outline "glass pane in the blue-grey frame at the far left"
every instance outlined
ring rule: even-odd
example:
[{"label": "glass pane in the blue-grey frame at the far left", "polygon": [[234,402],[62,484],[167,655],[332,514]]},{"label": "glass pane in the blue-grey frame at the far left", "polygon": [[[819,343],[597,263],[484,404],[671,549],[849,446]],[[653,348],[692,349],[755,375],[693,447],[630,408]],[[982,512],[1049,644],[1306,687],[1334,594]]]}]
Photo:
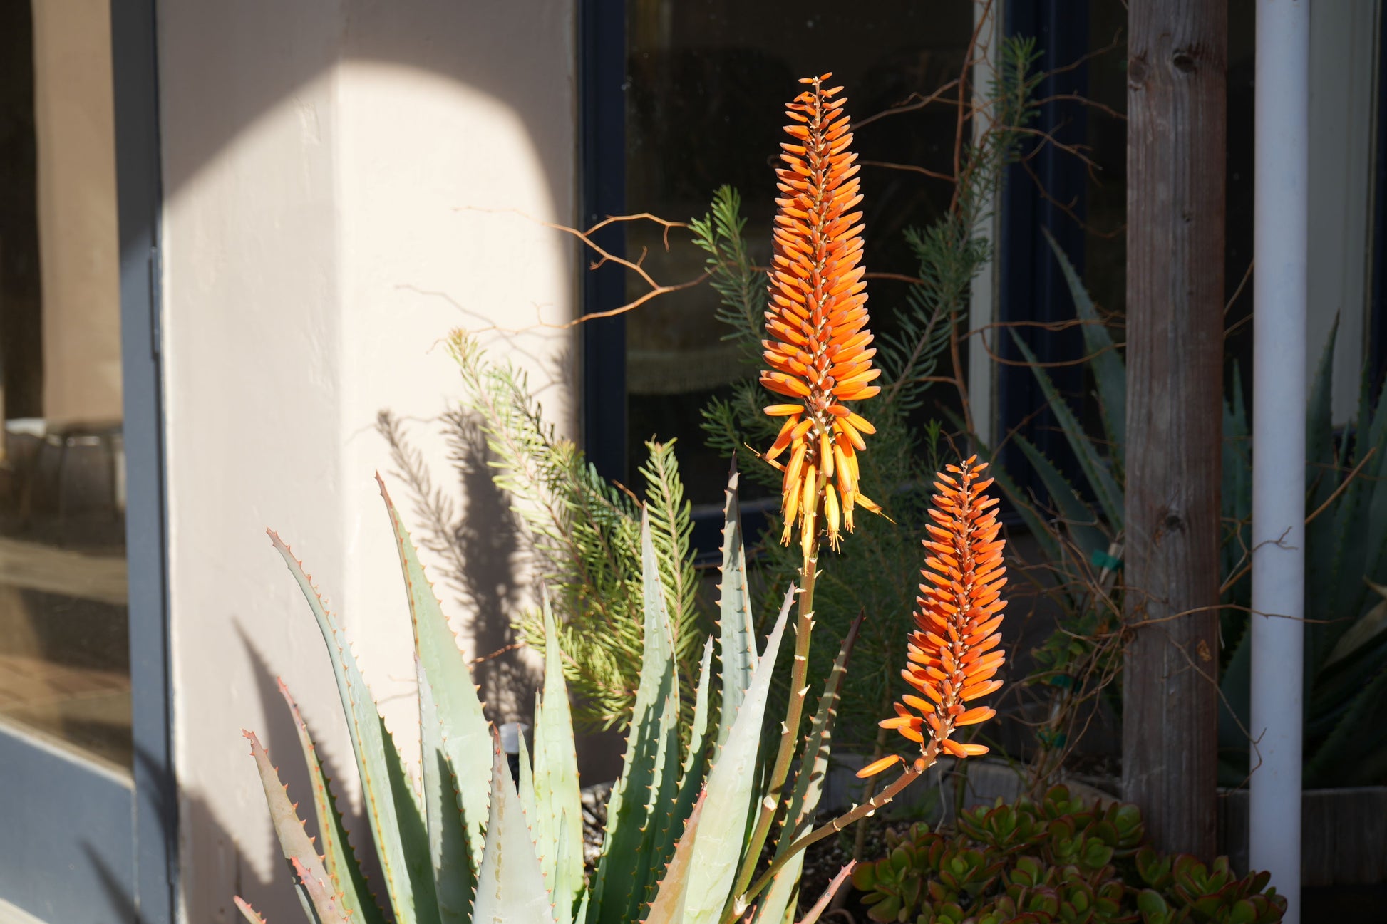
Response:
[{"label": "glass pane in the blue-grey frame at the far left", "polygon": [[110,3],[0,4],[0,721],[130,763]]}]

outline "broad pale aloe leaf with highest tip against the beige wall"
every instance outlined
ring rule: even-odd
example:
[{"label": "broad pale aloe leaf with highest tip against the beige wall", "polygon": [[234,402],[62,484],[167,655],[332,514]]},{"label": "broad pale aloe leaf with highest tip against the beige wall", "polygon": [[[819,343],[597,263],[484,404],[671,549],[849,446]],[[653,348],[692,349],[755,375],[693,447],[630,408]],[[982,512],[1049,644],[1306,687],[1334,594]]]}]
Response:
[{"label": "broad pale aloe leaf with highest tip against the beige wall", "polygon": [[399,567],[409,592],[409,617],[415,631],[415,651],[423,662],[434,705],[442,723],[442,749],[448,755],[459,784],[459,806],[473,869],[481,862],[481,819],[487,817],[487,751],[491,746],[491,727],[481,712],[477,688],[472,683],[467,660],[458,648],[458,640],[448,626],[438,597],[424,576],[419,554],[390,501],[386,483],[376,476],[380,497],[386,501],[390,524],[399,551]]}]

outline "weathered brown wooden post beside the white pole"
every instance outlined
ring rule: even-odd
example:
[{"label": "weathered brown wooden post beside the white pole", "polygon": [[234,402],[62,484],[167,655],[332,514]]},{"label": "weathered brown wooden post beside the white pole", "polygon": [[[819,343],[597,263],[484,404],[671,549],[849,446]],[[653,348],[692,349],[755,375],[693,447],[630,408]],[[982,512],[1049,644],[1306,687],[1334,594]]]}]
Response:
[{"label": "weathered brown wooden post beside the white pole", "polygon": [[1216,835],[1226,0],[1128,12],[1122,795],[1165,850]]}]

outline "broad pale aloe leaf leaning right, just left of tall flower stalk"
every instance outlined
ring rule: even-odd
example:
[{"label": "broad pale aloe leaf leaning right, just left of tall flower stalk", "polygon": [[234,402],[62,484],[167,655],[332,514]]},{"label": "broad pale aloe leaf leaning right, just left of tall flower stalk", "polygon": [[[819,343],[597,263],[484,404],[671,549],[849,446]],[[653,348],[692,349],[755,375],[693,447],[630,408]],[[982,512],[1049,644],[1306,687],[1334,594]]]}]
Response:
[{"label": "broad pale aloe leaf leaning right, just left of tall flower stalk", "polygon": [[727,744],[707,774],[707,802],[694,841],[688,895],[684,902],[685,924],[713,924],[731,898],[732,880],[746,841],[746,820],[752,807],[756,755],[761,744],[761,723],[766,717],[766,698],[775,656],[779,653],[785,620],[795,601],[793,585],[785,594],[775,628],[766,640],[766,651],[757,659],[752,685],[736,713],[736,721],[727,735]]}]

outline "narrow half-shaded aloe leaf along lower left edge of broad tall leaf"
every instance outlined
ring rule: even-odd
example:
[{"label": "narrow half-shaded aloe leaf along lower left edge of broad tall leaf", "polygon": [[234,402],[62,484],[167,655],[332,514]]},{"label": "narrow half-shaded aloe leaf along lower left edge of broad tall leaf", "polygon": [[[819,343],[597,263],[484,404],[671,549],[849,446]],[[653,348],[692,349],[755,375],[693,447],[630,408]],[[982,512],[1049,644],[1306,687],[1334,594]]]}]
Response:
[{"label": "narrow half-shaded aloe leaf along lower left edge of broad tall leaf", "polygon": [[415,658],[419,681],[420,763],[424,784],[424,820],[429,856],[433,860],[434,895],[442,924],[466,924],[476,885],[467,835],[458,809],[458,781],[442,746],[442,723],[434,705],[433,687]]}]

